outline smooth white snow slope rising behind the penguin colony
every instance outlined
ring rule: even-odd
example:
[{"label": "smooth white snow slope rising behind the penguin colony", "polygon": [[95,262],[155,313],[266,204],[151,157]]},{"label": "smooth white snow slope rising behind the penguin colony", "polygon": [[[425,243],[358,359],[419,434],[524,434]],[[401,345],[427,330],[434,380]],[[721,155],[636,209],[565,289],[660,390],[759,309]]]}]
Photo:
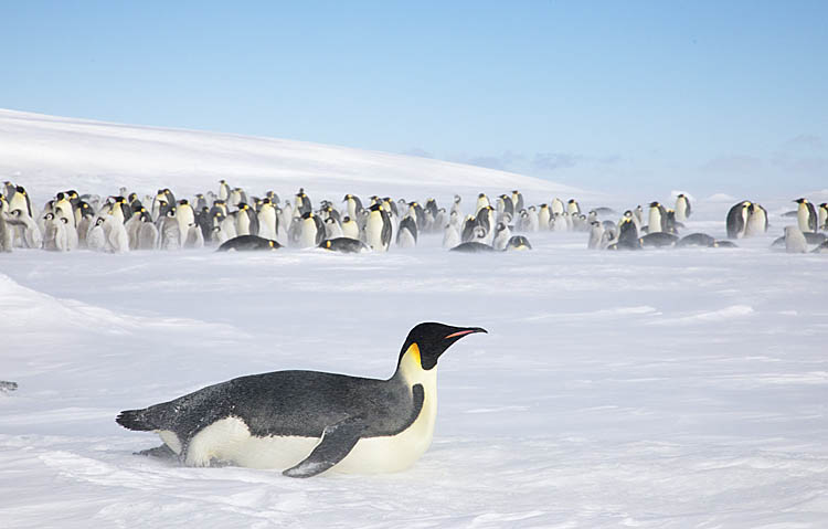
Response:
[{"label": "smooth white snow slope rising behind the penguin colony", "polygon": [[[400,194],[511,187],[545,194],[576,190],[492,169],[427,158],[302,141],[119,125],[0,109],[0,177],[36,183],[50,193],[144,192],[159,187],[192,194],[219,179],[245,188]],[[99,190],[100,189],[100,190]],[[449,194],[450,195],[450,194]],[[47,197],[46,197],[47,198]],[[544,199],[548,200],[548,199]]]}]

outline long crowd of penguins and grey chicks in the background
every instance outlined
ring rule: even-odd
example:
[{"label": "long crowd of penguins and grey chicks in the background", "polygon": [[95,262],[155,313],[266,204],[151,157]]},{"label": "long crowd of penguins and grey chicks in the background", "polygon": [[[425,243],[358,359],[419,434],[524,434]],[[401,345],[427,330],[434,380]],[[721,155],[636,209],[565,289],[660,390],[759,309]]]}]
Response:
[{"label": "long crowd of penguins and grey chicks in the background", "polygon": [[[421,204],[376,195],[363,205],[353,194],[346,194],[339,204],[322,200],[315,205],[302,189],[283,202],[273,191],[253,197],[224,180],[217,192],[199,193],[192,200],[177,200],[170,189],[142,199],[125,188],[106,199],[70,190],[56,193],[40,209],[22,186],[7,181],[0,190],[0,251],[6,252],[25,247],[124,253],[204,246],[221,252],[286,246],[388,252],[392,246],[415,247],[423,234],[442,233],[444,248],[491,253],[531,250],[527,236],[516,233],[571,231],[588,233],[591,250],[735,246],[704,233],[680,236],[692,214],[684,194],[676,198],[673,208],[654,201],[646,212],[638,205],[615,221],[616,213],[608,208],[584,214],[575,199],[524,204],[519,191],[497,197],[493,204],[480,193],[474,209],[464,212],[459,195],[449,208],[440,208],[434,199]],[[772,247],[784,246],[792,253],[828,252],[820,233],[828,231],[828,204],[815,207],[805,198],[794,202],[797,210],[784,216],[796,218],[797,224],[785,230]],[[729,210],[725,224],[729,240],[757,236],[768,231],[767,211],[755,202],[741,201]]]}]

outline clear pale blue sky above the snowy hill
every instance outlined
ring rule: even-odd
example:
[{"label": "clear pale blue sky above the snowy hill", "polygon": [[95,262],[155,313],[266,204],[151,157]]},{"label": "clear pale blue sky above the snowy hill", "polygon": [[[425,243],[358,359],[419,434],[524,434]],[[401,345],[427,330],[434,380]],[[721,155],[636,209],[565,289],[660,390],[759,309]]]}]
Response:
[{"label": "clear pale blue sky above the snowy hill", "polygon": [[0,4],[0,107],[582,187],[828,187],[828,2]]}]

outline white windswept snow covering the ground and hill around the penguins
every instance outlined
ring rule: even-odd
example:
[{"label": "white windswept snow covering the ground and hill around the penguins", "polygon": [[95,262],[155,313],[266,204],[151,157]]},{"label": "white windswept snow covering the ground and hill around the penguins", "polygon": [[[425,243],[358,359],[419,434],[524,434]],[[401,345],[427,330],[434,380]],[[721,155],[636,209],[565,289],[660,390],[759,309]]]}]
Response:
[{"label": "white windswept snow covering the ground and hill around the penguins", "polygon": [[[533,180],[307,145],[311,158],[331,149],[325,168],[297,154],[291,169],[308,169],[289,177],[279,157],[294,142],[0,114],[7,178],[44,200],[68,187],[204,191],[227,171],[280,194],[341,197],[351,178],[357,192],[420,200],[456,187],[468,209],[471,188]],[[9,161],[26,138],[44,141],[42,163]],[[70,156],[85,141],[88,154]],[[258,148],[270,154],[237,158]],[[151,149],[164,172],[135,167],[130,152]],[[556,188],[534,186],[544,201]],[[771,232],[736,250],[590,252],[585,233],[544,233],[529,235],[532,252],[495,255],[448,253],[437,235],[388,254],[0,254],[0,380],[20,384],[0,393],[0,527],[826,527],[828,261],[768,250],[803,191],[766,202]],[[687,233],[723,236],[729,207],[693,203]],[[404,473],[187,468],[131,455],[158,437],[115,423],[242,374],[389,377],[424,320],[489,335],[442,358],[434,444]]]}]

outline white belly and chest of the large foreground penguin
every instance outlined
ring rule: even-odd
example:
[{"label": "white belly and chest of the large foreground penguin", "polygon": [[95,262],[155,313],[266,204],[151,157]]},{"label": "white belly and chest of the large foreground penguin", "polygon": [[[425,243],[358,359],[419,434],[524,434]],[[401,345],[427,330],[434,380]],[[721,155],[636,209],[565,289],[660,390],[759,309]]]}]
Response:
[{"label": "white belly and chest of the large foreground penguin", "polygon": [[[428,395],[414,423],[396,435],[361,438],[331,472],[378,474],[400,472],[412,466],[428,448],[434,434],[437,402]],[[178,437],[168,431],[158,432],[173,452],[180,453]],[[304,461],[319,444],[319,437],[251,435],[238,417],[216,421],[199,432],[187,449],[187,465],[208,466],[223,461],[250,468],[284,470]]]}]

